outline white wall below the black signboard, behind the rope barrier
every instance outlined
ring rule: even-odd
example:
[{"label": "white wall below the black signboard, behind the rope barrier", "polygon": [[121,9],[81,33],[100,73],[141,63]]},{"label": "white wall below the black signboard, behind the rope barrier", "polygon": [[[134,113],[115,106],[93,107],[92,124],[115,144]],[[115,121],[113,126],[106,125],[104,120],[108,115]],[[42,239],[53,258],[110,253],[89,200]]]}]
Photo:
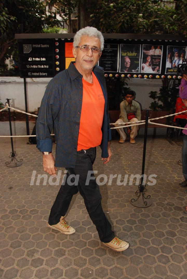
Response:
[{"label": "white wall below the black signboard, behind the rope barrier", "polygon": [[[33,112],[40,107],[45,88],[51,78],[27,78],[27,104],[28,111]],[[131,78],[128,84],[136,92],[136,101],[140,102],[142,109],[149,109],[153,101],[149,98],[150,91],[158,91],[162,86],[161,80]],[[11,98],[10,104],[25,111],[25,95],[23,78],[0,77],[0,101],[5,104],[6,98]]]}]

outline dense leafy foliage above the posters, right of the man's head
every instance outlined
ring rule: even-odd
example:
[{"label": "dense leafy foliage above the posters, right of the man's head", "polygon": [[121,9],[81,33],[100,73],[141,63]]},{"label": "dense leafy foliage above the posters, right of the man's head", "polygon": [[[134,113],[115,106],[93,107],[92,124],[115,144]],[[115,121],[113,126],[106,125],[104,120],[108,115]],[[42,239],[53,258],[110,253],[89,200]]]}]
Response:
[{"label": "dense leafy foliage above the posters, right of the man's head", "polygon": [[187,0],[98,0],[90,25],[103,33],[187,34]]}]

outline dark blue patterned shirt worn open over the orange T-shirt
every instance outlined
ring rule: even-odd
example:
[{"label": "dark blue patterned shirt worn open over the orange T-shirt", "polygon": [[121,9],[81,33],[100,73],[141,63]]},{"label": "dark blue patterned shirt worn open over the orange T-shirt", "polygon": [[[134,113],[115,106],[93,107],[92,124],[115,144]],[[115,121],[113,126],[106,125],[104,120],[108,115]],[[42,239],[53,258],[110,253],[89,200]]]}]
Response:
[{"label": "dark blue patterned shirt worn open over the orange T-shirt", "polygon": [[[75,167],[79,133],[83,84],[82,75],[71,62],[68,69],[60,72],[49,82],[42,98],[36,122],[37,148],[52,151],[51,132],[54,127],[56,139],[56,167]],[[93,69],[105,98],[102,124],[101,149],[103,158],[108,157],[108,141],[111,140],[108,100],[104,71],[99,66]],[[90,127],[92,129],[92,127]],[[94,146],[93,146],[94,147]]]}]

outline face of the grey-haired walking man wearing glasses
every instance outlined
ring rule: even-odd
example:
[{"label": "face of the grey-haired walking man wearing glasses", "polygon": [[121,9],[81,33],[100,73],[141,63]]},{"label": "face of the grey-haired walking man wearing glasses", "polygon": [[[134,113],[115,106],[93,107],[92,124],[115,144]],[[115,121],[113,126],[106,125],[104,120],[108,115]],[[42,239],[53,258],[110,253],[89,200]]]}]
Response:
[{"label": "face of the grey-haired walking man wearing glasses", "polygon": [[[96,37],[88,37],[83,35],[78,46],[85,45],[88,47],[96,47],[100,49],[100,40]],[[99,60],[101,53],[92,53],[89,49],[87,52],[83,52],[79,47],[73,47],[73,56],[76,58],[77,69],[91,70]]]}]

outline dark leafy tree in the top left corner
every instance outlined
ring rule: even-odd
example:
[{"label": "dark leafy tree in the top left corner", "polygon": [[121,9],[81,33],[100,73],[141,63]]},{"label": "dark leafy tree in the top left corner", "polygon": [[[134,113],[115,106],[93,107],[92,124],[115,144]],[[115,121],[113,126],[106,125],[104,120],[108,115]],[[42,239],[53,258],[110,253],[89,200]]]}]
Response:
[{"label": "dark leafy tree in the top left corner", "polygon": [[1,0],[0,60],[16,56],[15,33],[40,33],[45,18],[44,5],[37,0]]}]

